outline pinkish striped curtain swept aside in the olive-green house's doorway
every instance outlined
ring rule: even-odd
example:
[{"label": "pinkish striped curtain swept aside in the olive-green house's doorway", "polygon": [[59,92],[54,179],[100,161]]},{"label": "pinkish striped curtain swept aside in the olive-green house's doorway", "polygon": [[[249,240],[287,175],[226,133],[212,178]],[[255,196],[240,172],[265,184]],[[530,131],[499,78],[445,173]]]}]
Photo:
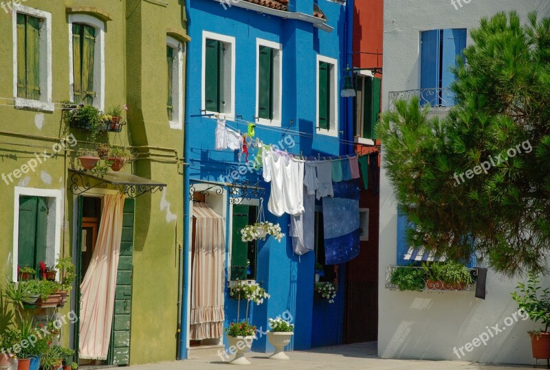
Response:
[{"label": "pinkish striped curtain swept aside in the olive-green house's doorway", "polygon": [[122,238],[124,194],[106,195],[96,248],[80,285],[80,358],[107,359]]}]

